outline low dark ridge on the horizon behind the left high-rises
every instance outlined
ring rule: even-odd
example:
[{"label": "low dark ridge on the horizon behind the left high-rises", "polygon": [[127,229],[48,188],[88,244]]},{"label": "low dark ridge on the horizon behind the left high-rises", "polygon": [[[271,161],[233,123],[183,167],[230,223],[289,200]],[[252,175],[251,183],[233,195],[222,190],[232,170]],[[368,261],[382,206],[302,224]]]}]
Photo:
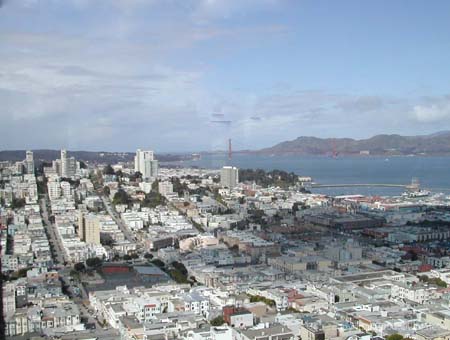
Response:
[{"label": "low dark ridge on the horizon behind the left high-rises", "polygon": [[[60,150],[32,150],[36,162],[52,161],[60,158]],[[96,152],[96,151],[67,151],[69,157],[75,157],[77,160],[93,163],[114,164],[117,162],[134,161],[133,152]],[[155,158],[161,162],[179,161],[190,159],[190,155],[159,154]],[[0,151],[0,161],[22,161],[25,159],[25,150],[6,150]]]}]

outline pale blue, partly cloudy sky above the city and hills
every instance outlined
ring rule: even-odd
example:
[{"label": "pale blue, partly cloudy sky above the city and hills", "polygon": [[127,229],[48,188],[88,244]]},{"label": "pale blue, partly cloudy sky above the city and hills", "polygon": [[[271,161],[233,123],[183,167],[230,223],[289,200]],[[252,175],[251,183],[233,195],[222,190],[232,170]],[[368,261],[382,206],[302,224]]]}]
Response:
[{"label": "pale blue, partly cloudy sky above the city and hills", "polygon": [[450,129],[447,0],[0,0],[0,149]]}]

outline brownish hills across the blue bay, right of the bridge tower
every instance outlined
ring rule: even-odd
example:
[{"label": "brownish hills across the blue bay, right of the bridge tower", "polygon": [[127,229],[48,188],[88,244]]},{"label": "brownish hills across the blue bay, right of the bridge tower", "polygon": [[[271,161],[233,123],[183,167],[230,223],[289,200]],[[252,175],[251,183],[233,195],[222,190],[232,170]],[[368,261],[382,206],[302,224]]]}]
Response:
[{"label": "brownish hills across the blue bay, right of the bridge tower", "polygon": [[274,155],[450,155],[450,131],[423,136],[377,135],[369,139],[298,137],[256,151]]}]

